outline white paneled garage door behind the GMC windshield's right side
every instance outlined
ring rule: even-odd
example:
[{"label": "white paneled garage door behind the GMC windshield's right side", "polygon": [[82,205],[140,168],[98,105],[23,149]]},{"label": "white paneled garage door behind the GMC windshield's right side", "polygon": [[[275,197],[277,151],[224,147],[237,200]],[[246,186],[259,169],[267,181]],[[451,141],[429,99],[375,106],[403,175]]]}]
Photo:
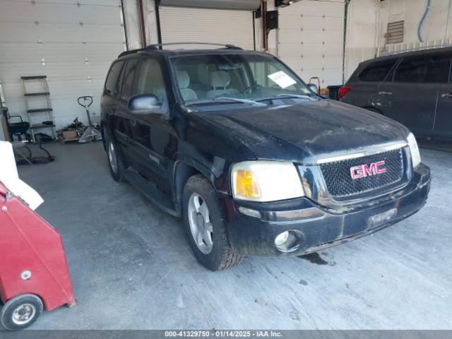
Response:
[{"label": "white paneled garage door behind the GMC windshield's right side", "polygon": [[304,81],[343,82],[343,0],[302,0],[279,10],[278,57]]}]

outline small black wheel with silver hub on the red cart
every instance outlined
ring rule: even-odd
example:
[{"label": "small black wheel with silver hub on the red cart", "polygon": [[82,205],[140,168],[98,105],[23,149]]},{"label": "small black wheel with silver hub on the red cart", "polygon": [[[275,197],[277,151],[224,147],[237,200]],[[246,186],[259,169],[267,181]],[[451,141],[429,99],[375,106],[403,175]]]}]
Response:
[{"label": "small black wheel with silver hub on the red cart", "polygon": [[0,322],[9,331],[28,328],[42,313],[42,300],[36,295],[19,295],[8,302],[0,311]]}]

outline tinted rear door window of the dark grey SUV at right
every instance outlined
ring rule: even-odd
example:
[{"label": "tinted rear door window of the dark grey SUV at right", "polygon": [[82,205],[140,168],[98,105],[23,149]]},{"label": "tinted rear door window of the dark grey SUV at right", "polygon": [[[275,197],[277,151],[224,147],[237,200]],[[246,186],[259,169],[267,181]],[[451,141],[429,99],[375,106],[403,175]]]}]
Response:
[{"label": "tinted rear door window of the dark grey SUV at right", "polygon": [[403,58],[397,66],[394,81],[399,83],[447,83],[450,54],[424,54]]}]

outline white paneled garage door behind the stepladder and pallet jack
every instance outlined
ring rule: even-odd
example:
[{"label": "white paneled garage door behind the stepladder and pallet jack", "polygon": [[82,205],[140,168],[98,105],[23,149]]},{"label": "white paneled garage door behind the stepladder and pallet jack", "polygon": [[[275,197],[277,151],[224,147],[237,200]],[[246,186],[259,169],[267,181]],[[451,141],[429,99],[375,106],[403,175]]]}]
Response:
[{"label": "white paneled garage door behind the stepladder and pallet jack", "polygon": [[[20,77],[47,76],[57,129],[76,117],[86,123],[76,102],[82,95],[94,96],[90,112],[98,120],[109,65],[125,49],[120,0],[1,0],[0,32],[0,81],[10,114],[27,117]],[[41,101],[29,100],[30,108]],[[35,124],[40,119],[47,117],[32,117]]]}]

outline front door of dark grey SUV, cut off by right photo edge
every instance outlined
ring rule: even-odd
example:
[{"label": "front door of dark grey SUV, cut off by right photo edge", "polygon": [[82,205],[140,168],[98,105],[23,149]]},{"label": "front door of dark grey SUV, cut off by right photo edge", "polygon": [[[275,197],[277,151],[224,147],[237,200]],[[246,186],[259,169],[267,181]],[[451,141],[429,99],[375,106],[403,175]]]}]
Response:
[{"label": "front door of dark grey SUV, cut off by right photo edge", "polygon": [[438,93],[438,105],[434,119],[434,136],[452,138],[452,78],[451,78],[452,52],[448,53],[449,71],[448,81],[442,83]]}]

